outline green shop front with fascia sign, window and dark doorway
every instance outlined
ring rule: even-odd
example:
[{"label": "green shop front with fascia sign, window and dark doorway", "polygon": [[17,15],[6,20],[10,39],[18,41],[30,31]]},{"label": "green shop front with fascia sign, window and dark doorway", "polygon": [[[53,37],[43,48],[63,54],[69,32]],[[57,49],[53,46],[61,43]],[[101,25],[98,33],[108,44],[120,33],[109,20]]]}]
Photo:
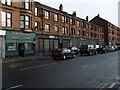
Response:
[{"label": "green shop front with fascia sign, window and dark doorway", "polygon": [[6,57],[24,57],[34,55],[35,33],[22,31],[6,31]]}]

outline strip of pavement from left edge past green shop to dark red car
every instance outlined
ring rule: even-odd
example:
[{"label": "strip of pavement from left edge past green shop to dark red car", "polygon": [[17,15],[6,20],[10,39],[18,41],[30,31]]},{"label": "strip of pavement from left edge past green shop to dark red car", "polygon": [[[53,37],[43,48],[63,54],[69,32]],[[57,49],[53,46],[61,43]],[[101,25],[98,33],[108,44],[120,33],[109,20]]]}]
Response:
[{"label": "strip of pavement from left edge past green shop to dark red car", "polygon": [[5,58],[2,59],[1,63],[13,63],[13,62],[27,62],[27,61],[33,61],[33,60],[48,60],[52,58],[51,55],[33,55],[33,56],[26,56],[26,57],[11,57],[11,58]]}]

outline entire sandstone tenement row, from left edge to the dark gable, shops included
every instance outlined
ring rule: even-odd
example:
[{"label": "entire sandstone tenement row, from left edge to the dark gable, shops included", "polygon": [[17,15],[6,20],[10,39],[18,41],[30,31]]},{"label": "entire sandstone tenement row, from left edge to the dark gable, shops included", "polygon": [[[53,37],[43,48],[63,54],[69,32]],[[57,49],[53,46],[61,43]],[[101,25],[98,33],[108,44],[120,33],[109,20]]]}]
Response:
[{"label": "entire sandstone tenement row, from left edge to the dark gable, shops included", "polygon": [[58,47],[104,44],[103,27],[90,23],[88,16],[79,18],[76,11],[65,12],[62,4],[59,9],[33,0],[1,0],[0,4],[2,58],[46,54]]}]

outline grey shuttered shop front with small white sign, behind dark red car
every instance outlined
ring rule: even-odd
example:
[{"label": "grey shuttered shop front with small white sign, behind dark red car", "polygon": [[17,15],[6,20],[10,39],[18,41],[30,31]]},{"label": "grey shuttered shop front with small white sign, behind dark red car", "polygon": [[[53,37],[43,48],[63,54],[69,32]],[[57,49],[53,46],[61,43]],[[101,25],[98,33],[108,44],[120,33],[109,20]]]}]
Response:
[{"label": "grey shuttered shop front with small white sign, behind dark red car", "polygon": [[68,44],[67,37],[36,34],[35,52],[36,54],[51,54],[56,48],[66,48]]}]

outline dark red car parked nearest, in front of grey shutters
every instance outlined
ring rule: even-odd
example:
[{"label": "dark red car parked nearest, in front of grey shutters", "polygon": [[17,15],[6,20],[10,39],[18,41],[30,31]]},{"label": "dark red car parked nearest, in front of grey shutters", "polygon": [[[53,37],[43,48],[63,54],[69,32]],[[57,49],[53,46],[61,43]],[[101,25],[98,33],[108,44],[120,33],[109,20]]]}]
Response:
[{"label": "dark red car parked nearest, in front of grey shutters", "polygon": [[75,58],[75,52],[68,48],[58,48],[52,52],[52,56],[54,59],[66,59],[69,57]]}]

